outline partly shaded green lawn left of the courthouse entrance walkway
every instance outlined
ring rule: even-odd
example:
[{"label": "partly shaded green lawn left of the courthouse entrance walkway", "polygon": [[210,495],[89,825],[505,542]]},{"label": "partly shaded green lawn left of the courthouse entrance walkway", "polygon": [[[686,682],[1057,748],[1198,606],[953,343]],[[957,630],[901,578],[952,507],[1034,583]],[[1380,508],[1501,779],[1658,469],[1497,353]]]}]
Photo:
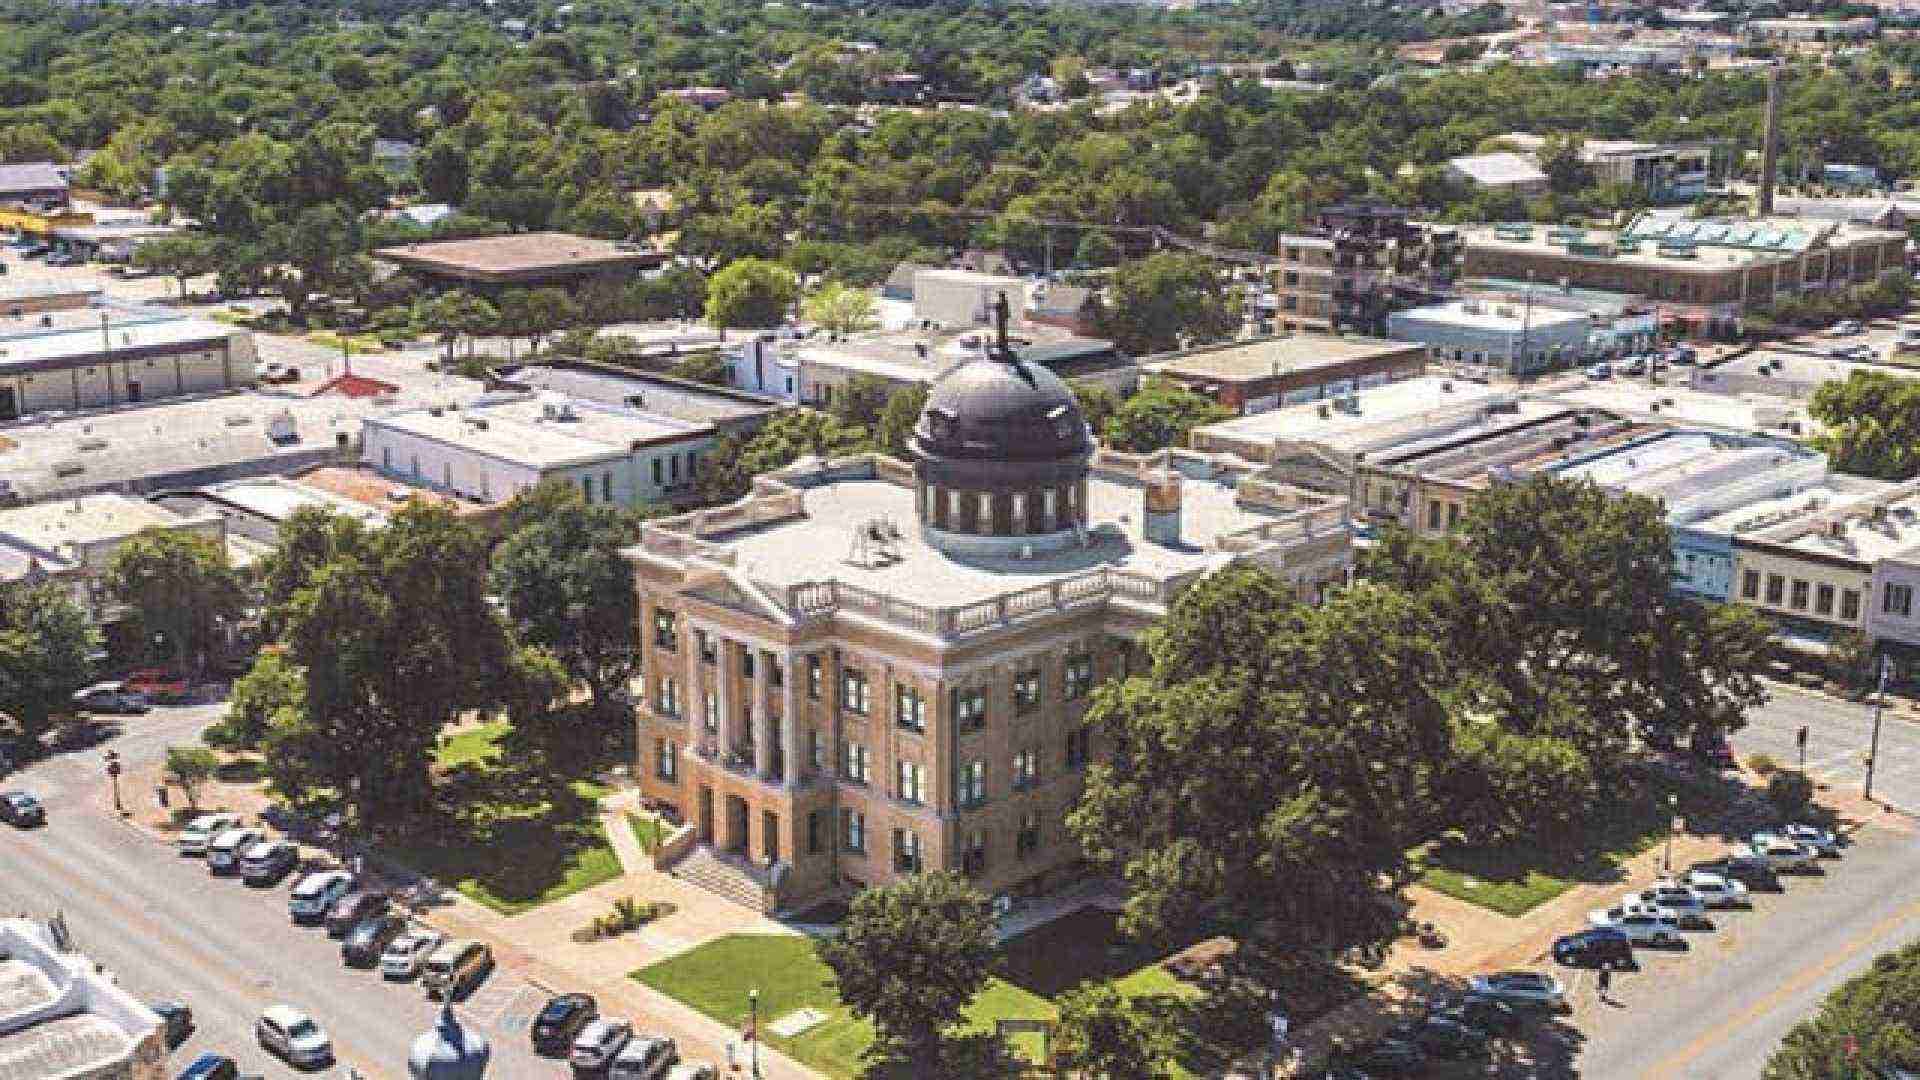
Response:
[{"label": "partly shaded green lawn left of the courthouse entrance walkway", "polygon": [[449,799],[457,817],[388,851],[501,915],[618,878],[620,857],[595,805],[607,788],[511,769],[499,746],[507,730],[492,723],[445,740],[434,763],[457,788]]}]

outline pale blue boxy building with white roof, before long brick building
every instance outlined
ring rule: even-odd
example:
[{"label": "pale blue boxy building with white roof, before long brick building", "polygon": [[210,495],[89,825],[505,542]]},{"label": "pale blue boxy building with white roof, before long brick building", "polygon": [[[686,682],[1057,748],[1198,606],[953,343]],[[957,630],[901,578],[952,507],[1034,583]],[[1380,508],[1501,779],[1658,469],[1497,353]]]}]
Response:
[{"label": "pale blue boxy building with white roof, before long brick building", "polygon": [[1386,336],[1417,342],[1436,363],[1530,377],[1578,363],[1588,354],[1594,319],[1582,311],[1484,300],[1450,300],[1394,311]]}]

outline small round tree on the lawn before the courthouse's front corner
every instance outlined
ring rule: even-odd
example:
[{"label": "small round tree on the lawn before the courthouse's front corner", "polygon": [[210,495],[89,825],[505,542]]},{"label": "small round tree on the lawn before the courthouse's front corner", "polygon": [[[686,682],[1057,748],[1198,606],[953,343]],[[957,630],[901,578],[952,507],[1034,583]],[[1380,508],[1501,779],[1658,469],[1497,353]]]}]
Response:
[{"label": "small round tree on the lawn before the courthouse's front corner", "polygon": [[856,896],[841,932],[814,951],[852,1015],[916,1074],[935,1074],[943,1032],[987,984],[993,909],[960,874],[914,874]]}]

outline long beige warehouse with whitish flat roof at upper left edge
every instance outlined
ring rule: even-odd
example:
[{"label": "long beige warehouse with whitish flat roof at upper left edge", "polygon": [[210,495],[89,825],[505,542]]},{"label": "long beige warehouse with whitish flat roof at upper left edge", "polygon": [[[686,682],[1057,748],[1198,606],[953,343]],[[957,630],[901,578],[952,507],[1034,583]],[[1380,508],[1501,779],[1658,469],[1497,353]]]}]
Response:
[{"label": "long beige warehouse with whitish flat roof at upper left edge", "polygon": [[0,423],[211,394],[253,379],[252,331],[209,319],[42,307],[31,329],[0,331]]}]

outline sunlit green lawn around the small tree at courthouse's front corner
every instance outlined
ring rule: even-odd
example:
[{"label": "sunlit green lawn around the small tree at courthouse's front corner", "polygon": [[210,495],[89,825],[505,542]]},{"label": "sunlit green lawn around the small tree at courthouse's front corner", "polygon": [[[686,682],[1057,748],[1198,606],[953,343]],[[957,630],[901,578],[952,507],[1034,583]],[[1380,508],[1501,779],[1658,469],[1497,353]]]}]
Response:
[{"label": "sunlit green lawn around the small tree at courthouse's front corner", "polygon": [[[766,1032],[766,1042],[828,1076],[856,1076],[874,1042],[874,1026],[856,1020],[833,992],[833,972],[814,955],[810,938],[783,934],[730,934],[634,972],[634,978],[674,997],[730,1028],[747,1020],[747,992],[760,990],[760,1022],[795,1009],[820,1009],[828,1020],[797,1038]],[[1054,1019],[1044,997],[998,978],[989,980],[968,1007],[968,1028],[991,1032],[1000,1019]],[[1023,1053],[1037,1053],[1016,1040]]]}]

